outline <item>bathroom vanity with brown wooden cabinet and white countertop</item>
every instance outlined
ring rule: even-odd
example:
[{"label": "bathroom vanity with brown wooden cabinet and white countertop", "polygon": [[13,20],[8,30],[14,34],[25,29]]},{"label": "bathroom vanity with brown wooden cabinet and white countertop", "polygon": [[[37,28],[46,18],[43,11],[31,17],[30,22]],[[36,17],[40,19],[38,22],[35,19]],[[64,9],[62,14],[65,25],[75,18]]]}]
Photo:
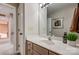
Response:
[{"label": "bathroom vanity with brown wooden cabinet and white countertop", "polygon": [[39,35],[27,36],[26,54],[27,55],[79,55],[79,48],[69,46],[53,38],[49,41]]}]

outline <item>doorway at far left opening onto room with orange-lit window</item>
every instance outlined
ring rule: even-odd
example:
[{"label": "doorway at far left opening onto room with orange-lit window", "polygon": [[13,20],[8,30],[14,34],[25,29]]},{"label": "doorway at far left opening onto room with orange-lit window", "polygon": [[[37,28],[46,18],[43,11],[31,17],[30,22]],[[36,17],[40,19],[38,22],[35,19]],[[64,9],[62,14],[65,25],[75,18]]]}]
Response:
[{"label": "doorway at far left opening onto room with orange-lit window", "polygon": [[16,8],[0,3],[0,54],[16,53]]}]

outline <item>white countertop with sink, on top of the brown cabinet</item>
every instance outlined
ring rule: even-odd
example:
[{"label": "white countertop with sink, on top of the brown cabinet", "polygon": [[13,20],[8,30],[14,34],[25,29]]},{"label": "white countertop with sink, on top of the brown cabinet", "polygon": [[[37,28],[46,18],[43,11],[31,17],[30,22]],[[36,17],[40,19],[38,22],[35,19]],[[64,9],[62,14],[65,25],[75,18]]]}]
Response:
[{"label": "white countertop with sink, on top of the brown cabinet", "polygon": [[[79,48],[72,47],[68,44],[62,43],[62,41],[55,39],[56,38],[53,38],[52,41],[48,41],[47,38],[39,35],[29,35],[27,36],[26,40],[31,41],[37,45],[40,45],[44,48],[47,48],[51,51],[54,51],[62,55],[79,55]],[[61,39],[61,38],[57,38],[57,39]],[[45,41],[48,42],[46,43]]]}]

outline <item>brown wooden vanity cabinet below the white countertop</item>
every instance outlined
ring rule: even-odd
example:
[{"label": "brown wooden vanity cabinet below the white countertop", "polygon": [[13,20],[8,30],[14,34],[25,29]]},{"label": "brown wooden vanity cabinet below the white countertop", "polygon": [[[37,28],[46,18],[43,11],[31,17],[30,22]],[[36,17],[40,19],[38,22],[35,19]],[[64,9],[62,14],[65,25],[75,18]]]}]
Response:
[{"label": "brown wooden vanity cabinet below the white countertop", "polygon": [[58,53],[50,51],[30,41],[27,41],[26,43],[26,54],[27,55],[60,55]]}]

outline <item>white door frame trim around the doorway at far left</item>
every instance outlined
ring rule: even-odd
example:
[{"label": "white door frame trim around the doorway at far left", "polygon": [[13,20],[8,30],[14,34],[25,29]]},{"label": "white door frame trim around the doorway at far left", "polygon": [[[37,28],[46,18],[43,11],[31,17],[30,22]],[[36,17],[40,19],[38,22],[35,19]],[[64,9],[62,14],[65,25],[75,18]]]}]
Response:
[{"label": "white door frame trim around the doorway at far left", "polygon": [[12,6],[10,4],[7,4],[7,3],[0,3],[0,4],[14,9],[14,12],[12,12],[14,14],[13,20],[15,22],[15,32],[14,32],[14,35],[15,35],[15,38],[14,39],[15,39],[15,41],[14,41],[13,44],[14,44],[14,53],[17,53],[17,50],[16,50],[16,47],[17,47],[17,44],[16,44],[16,34],[17,34],[17,31],[16,31],[17,30],[16,29],[16,7],[15,6]]}]

